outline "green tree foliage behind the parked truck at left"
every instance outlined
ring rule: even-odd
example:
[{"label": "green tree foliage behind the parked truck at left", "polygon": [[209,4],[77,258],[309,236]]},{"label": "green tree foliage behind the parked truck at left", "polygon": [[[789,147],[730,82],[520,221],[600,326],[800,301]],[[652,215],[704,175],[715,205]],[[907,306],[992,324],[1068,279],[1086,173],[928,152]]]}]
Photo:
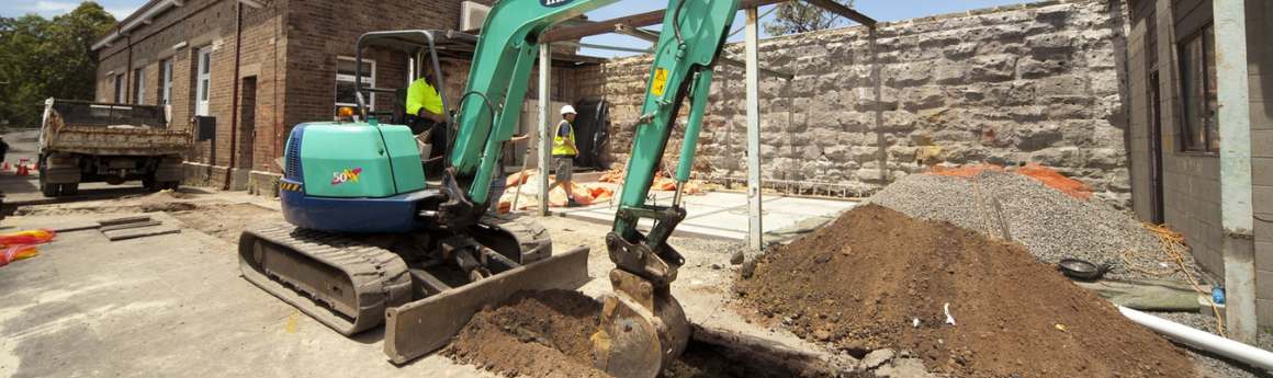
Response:
[{"label": "green tree foliage behind the parked truck at left", "polygon": [[93,99],[97,62],[88,45],[117,22],[93,1],[52,20],[37,14],[0,18],[0,118],[37,126],[46,98]]}]

